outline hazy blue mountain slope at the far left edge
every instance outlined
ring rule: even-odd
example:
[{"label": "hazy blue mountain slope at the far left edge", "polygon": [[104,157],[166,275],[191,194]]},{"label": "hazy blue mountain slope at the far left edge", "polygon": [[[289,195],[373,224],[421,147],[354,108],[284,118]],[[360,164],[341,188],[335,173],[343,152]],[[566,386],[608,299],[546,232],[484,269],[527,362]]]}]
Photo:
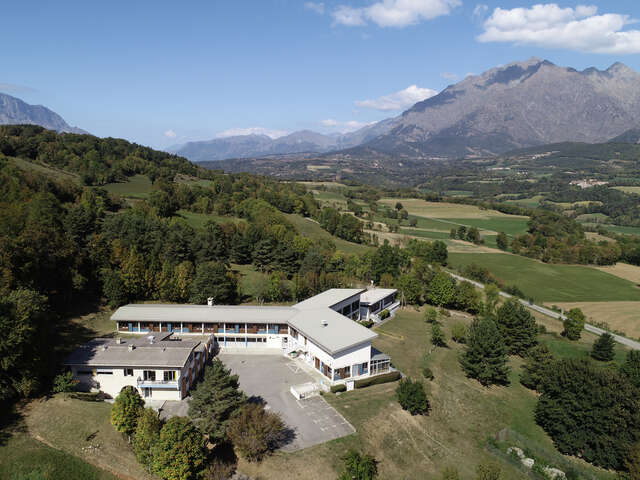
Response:
[{"label": "hazy blue mountain slope at the far left edge", "polygon": [[0,93],[0,125],[40,125],[61,133],[87,133],[70,126],[52,110],[42,105],[29,105],[19,98]]}]

